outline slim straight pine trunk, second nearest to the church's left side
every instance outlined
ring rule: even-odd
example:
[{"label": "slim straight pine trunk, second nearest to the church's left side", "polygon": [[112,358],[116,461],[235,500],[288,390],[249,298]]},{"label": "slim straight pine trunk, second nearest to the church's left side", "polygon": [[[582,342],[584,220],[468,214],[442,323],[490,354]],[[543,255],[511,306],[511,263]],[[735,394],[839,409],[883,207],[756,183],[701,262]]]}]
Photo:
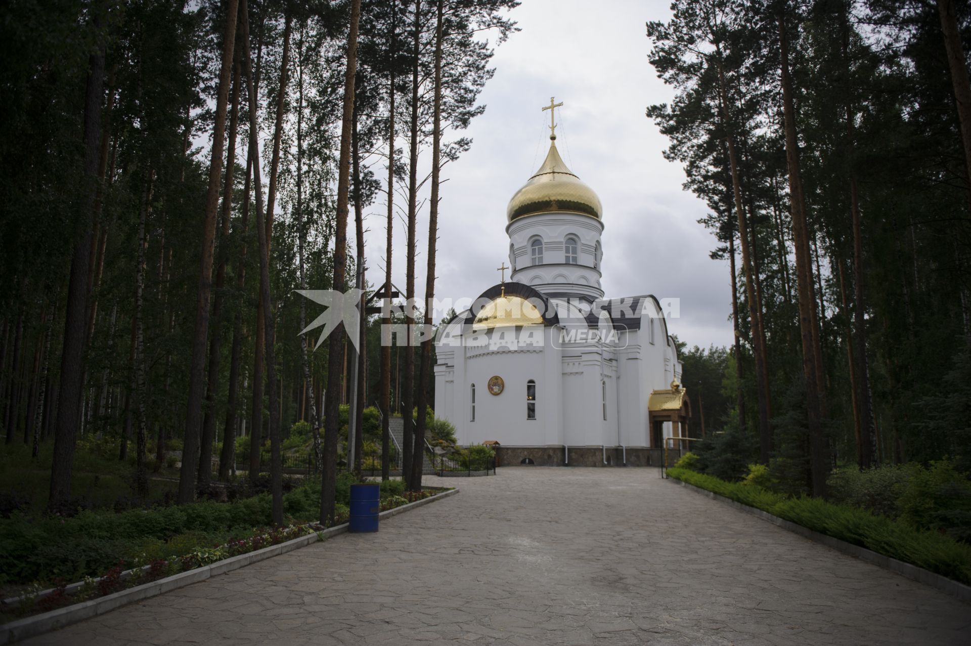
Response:
[{"label": "slim straight pine trunk, second nearest to the church's left side", "polygon": [[419,166],[419,63],[421,59],[421,0],[415,0],[415,35],[412,52],[412,131],[411,155],[408,169],[408,249],[405,267],[405,314],[408,319],[408,343],[405,346],[405,375],[401,400],[404,407],[401,411],[402,423],[405,428],[402,459],[402,476],[405,486],[410,489],[412,473],[412,457],[415,453],[414,418],[412,410],[415,407],[415,348],[412,338],[415,329],[415,224],[418,217],[418,166]]}]

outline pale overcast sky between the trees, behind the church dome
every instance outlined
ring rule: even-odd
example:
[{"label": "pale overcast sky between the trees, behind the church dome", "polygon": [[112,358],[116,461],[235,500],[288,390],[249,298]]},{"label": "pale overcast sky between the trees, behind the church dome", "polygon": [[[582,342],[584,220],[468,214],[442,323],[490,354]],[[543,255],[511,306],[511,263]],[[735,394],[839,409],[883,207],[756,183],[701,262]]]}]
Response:
[{"label": "pale overcast sky between the trees, behind the church dome", "polygon": [[[495,76],[480,97],[485,114],[465,133],[472,150],[444,170],[437,295],[475,298],[499,282],[495,268],[509,255],[506,206],[546,155],[550,113],[541,108],[555,96],[564,103],[556,110],[557,147],[603,203],[606,295],[680,298],[672,333],[688,346],[731,343],[727,261],[709,258],[715,238],[697,223],[705,205],[682,189],[684,169],[664,159],[667,139],[645,117],[649,104],[669,102],[672,91],[648,62],[644,23],[669,14],[657,0],[524,0],[513,12],[520,31],[496,49]],[[383,177],[385,164],[378,164]],[[384,213],[384,199],[368,210],[371,284],[384,272]],[[427,218],[426,204],[418,223],[419,296]],[[394,283],[404,289],[402,223],[394,235]]]}]

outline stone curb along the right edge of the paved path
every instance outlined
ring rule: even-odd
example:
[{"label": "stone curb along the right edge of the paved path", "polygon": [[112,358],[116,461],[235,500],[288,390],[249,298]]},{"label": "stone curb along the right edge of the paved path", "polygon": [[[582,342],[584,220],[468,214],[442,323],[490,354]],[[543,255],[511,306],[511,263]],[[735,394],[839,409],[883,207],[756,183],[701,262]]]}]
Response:
[{"label": "stone curb along the right edge of the paved path", "polygon": [[713,500],[726,503],[739,511],[745,512],[746,514],[751,514],[752,516],[760,518],[763,521],[768,521],[773,525],[788,529],[793,533],[799,534],[803,538],[808,538],[809,540],[816,543],[821,543],[826,547],[831,547],[837,552],[842,552],[843,554],[855,557],[860,561],[867,561],[875,565],[879,565],[884,569],[888,569],[891,572],[896,572],[897,574],[905,576],[908,579],[930,586],[931,588],[936,588],[937,590],[947,593],[948,595],[955,596],[962,601],[971,601],[971,586],[966,586],[963,583],[949,579],[946,576],[935,574],[934,572],[917,565],[904,561],[898,561],[891,557],[880,554],[879,552],[874,552],[873,550],[868,550],[865,547],[860,547],[859,545],[848,543],[845,540],[820,533],[815,529],[802,527],[801,525],[797,525],[791,521],[779,518],[778,516],[773,516],[766,511],[762,511],[761,509],[750,507],[749,505],[742,504],[741,502],[732,500],[731,498],[727,498],[719,493],[709,492],[707,489],[701,489],[700,487],[689,485],[686,482],[682,482],[681,480],[676,480],[674,478],[672,478],[672,480],[693,492],[701,493],[702,495],[706,495]]}]

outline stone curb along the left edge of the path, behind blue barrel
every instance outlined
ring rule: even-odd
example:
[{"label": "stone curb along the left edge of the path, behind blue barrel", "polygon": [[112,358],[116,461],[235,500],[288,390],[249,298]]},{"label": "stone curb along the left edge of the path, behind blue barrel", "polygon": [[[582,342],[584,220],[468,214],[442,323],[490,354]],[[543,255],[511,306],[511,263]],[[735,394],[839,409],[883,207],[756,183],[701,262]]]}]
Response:
[{"label": "stone curb along the left edge of the path, behind blue barrel", "polygon": [[[434,502],[440,498],[454,495],[455,493],[458,493],[457,489],[452,489],[451,491],[443,493],[436,493],[435,495],[411,502],[407,505],[395,507],[394,509],[388,509],[387,511],[381,512],[378,516],[381,519],[391,518],[392,516],[397,516],[398,514],[404,513],[416,507],[420,507],[421,505],[428,504],[429,502]],[[136,586],[128,590],[122,590],[112,595],[100,596],[95,599],[90,599],[89,601],[82,601],[81,603],[75,603],[74,605],[57,608],[56,610],[51,610],[50,612],[45,612],[40,615],[34,615],[33,617],[24,617],[23,619],[18,619],[17,621],[0,626],[0,644],[11,644],[15,641],[20,641],[21,639],[43,634],[44,632],[50,632],[50,630],[64,628],[65,626],[76,624],[84,621],[85,619],[102,615],[110,610],[114,610],[115,608],[128,603],[134,603],[135,601],[141,601],[142,599],[149,598],[150,596],[161,595],[173,590],[178,590],[179,588],[184,588],[185,586],[192,585],[193,583],[205,581],[206,579],[217,576],[218,574],[225,574],[226,572],[239,569],[240,567],[245,567],[251,563],[265,561],[266,559],[271,559],[273,557],[286,554],[287,552],[298,550],[301,547],[306,547],[307,545],[316,543],[318,540],[327,540],[328,538],[338,534],[346,533],[348,531],[348,525],[349,524],[345,523],[344,525],[338,525],[337,527],[330,527],[328,529],[324,529],[323,531],[290,539],[285,543],[280,543],[279,545],[271,545],[270,547],[264,547],[261,550],[241,554],[237,557],[230,557],[229,559],[223,559],[222,561],[217,561],[210,565],[197,567],[195,569],[188,570],[187,572],[180,572],[179,574],[175,574],[164,579],[159,579],[158,581],[152,581],[151,583],[146,583],[141,586]]]}]

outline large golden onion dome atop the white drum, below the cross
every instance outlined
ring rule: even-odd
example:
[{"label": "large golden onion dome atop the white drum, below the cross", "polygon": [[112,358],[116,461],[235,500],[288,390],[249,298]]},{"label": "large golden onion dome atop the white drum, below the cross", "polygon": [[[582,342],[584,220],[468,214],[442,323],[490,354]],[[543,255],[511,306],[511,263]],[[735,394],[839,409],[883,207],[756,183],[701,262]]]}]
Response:
[{"label": "large golden onion dome atop the white drum, below the cross", "polygon": [[556,151],[552,136],[550,153],[540,169],[509,201],[509,221],[541,213],[579,213],[600,219],[600,198],[573,174]]}]

